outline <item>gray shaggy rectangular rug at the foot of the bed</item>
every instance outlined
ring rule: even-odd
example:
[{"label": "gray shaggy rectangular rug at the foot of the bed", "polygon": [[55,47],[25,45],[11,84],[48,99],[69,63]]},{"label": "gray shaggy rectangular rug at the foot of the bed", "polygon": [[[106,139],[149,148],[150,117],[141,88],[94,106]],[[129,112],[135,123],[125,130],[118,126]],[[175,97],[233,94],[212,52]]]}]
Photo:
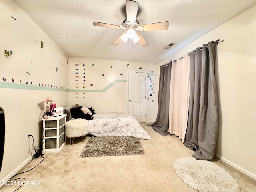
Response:
[{"label": "gray shaggy rectangular rug at the foot of the bed", "polygon": [[82,150],[81,157],[143,155],[139,138],[127,136],[92,137]]}]

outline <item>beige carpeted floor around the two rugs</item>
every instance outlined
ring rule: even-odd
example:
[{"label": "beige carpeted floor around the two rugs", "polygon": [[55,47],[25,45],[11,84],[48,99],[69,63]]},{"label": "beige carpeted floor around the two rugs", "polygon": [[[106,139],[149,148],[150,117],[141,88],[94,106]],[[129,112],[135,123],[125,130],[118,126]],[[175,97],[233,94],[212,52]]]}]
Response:
[{"label": "beige carpeted floor around the two rugs", "polygon": [[[142,124],[144,125],[144,124]],[[80,153],[90,137],[75,138],[59,153],[44,154],[45,160],[33,170],[16,176],[30,184],[17,192],[196,192],[174,170],[174,162],[194,153],[176,136],[161,136],[151,127],[143,126],[152,140],[140,142],[144,155],[81,158]],[[36,166],[42,158],[28,163],[21,171]],[[214,164],[226,170],[237,182],[241,192],[255,192],[256,181],[214,158]],[[34,181],[34,185],[32,185]],[[40,182],[40,185],[35,183]],[[18,186],[3,186],[0,192],[12,192]]]}]

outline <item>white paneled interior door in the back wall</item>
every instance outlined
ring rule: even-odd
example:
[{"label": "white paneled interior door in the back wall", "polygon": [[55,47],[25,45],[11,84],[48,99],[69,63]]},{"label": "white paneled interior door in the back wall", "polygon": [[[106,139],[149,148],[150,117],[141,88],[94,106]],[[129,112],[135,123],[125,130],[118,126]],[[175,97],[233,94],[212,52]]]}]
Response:
[{"label": "white paneled interior door in the back wall", "polygon": [[146,72],[129,72],[128,78],[128,112],[146,122]]}]

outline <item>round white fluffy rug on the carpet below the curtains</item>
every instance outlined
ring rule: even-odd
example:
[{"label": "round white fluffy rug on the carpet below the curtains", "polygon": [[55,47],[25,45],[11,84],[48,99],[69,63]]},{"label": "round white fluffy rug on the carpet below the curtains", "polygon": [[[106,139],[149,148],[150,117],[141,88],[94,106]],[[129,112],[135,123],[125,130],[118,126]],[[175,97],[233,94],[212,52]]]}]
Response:
[{"label": "round white fluffy rug on the carpet below the curtains", "polygon": [[207,160],[182,157],[174,162],[178,176],[199,192],[239,192],[240,188],[224,169]]}]

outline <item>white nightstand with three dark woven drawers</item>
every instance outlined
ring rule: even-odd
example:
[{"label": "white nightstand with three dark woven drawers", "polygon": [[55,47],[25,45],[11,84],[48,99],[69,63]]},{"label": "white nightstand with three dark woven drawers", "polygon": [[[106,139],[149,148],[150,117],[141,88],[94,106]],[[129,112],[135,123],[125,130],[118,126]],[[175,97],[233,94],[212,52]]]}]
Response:
[{"label": "white nightstand with three dark woven drawers", "polygon": [[43,121],[43,153],[58,153],[65,145],[66,115]]}]

